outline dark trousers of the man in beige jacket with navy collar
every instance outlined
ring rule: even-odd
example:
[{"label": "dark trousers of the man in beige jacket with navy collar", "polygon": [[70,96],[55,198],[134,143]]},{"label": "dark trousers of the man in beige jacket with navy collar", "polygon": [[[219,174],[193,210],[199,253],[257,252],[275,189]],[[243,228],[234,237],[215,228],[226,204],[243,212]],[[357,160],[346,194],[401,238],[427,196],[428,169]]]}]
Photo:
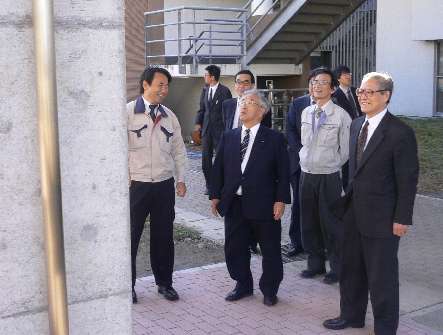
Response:
[{"label": "dark trousers of the man in beige jacket with navy collar", "polygon": [[144,222],[151,214],[151,267],[155,284],[172,285],[174,267],[174,241],[172,238],[175,218],[174,178],[159,183],[132,180],[129,187],[131,209],[131,259],[132,286],[136,283],[136,256]]}]

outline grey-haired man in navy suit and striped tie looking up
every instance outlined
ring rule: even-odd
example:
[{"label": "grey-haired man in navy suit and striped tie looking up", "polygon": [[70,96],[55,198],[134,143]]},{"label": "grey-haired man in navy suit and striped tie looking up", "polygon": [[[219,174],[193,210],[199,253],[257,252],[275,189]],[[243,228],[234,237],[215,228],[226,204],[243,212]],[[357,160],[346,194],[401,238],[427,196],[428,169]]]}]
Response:
[{"label": "grey-haired man in navy suit and striped tie looking up", "polygon": [[225,300],[253,294],[248,246],[254,234],[263,254],[260,290],[273,306],[283,279],[280,218],[291,203],[288,148],[281,132],[260,125],[270,109],[263,93],[245,91],[240,105],[243,125],[221,135],[210,184],[212,212],[225,217],[226,265],[237,281]]}]

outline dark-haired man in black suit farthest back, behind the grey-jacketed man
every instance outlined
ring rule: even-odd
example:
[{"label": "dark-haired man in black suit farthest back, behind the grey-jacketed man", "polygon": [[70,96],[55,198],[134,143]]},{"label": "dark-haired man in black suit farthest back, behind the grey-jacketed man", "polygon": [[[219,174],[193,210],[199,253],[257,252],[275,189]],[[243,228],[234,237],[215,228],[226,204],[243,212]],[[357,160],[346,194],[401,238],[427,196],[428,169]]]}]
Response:
[{"label": "dark-haired man in black suit farthest back, behind the grey-jacketed man", "polygon": [[[349,67],[340,65],[337,66],[332,72],[335,75],[340,86],[333,94],[333,97],[337,99],[337,102],[343,109],[348,112],[352,120],[360,117],[361,109],[360,104],[357,101],[357,96],[355,95],[355,87],[351,85],[352,74]],[[349,162],[346,162],[342,166],[342,183],[343,190],[346,192],[348,187],[348,175],[349,175]]]}]

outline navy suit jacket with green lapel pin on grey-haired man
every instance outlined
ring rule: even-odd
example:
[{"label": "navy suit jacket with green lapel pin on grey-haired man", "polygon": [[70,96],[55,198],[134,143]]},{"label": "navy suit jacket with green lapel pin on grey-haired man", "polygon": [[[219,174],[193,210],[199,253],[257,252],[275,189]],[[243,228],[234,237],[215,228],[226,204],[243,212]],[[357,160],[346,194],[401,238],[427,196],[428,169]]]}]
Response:
[{"label": "navy suit jacket with green lapel pin on grey-haired man", "polygon": [[243,174],[240,142],[241,127],[221,135],[212,167],[209,198],[220,199],[217,211],[225,216],[241,185],[245,217],[272,219],[274,203],[291,203],[286,140],[281,132],[260,126]]}]

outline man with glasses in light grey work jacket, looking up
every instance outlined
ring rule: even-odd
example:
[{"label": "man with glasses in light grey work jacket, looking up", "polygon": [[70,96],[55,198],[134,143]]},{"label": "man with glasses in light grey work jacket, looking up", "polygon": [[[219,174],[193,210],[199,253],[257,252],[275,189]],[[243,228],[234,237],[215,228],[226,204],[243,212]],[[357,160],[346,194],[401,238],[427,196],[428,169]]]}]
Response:
[{"label": "man with glasses in light grey work jacket, looking up", "polygon": [[351,117],[331,101],[338,87],[329,70],[320,70],[312,81],[317,103],[303,109],[300,149],[300,209],[303,248],[307,270],[303,278],[326,273],[326,249],[330,272],[323,282],[337,283],[340,273],[342,222],[329,205],[342,194],[339,168],[348,160]]}]

